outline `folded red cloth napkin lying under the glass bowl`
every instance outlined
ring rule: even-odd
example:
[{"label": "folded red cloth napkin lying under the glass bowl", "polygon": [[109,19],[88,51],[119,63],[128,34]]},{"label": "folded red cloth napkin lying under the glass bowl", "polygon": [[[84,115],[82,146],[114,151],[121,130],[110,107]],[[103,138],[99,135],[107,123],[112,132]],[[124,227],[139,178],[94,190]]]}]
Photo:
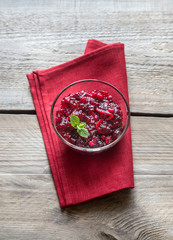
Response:
[{"label": "folded red cloth napkin lying under the glass bowl", "polygon": [[122,43],[89,40],[85,54],[64,64],[27,74],[61,207],[134,187],[131,131],[101,155],[81,155],[55,134],[50,109],[57,93],[71,82],[100,79],[116,86],[128,100]]}]

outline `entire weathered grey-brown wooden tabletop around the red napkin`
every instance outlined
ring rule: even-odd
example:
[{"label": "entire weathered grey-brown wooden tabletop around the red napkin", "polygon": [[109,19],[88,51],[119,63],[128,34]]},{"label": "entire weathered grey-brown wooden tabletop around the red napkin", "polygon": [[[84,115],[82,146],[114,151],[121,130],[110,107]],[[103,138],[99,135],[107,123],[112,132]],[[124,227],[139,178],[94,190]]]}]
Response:
[{"label": "entire weathered grey-brown wooden tabletop around the red napkin", "polygon": [[[131,118],[135,189],[61,210],[25,77],[126,46],[131,111],[173,114],[172,0],[0,0],[0,240],[172,240],[173,118]],[[23,112],[24,113],[24,112]],[[25,111],[26,113],[26,111]],[[158,115],[157,115],[158,116]]]}]

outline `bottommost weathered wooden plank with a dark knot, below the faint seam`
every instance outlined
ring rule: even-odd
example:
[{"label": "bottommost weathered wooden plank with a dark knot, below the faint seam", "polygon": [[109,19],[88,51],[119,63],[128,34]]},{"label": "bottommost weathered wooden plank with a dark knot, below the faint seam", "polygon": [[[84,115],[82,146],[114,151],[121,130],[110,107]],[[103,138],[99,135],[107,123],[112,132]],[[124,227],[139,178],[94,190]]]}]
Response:
[{"label": "bottommost weathered wooden plank with a dark knot, below the faint seam", "polygon": [[1,240],[172,240],[173,176],[61,210],[50,175],[0,176]]}]

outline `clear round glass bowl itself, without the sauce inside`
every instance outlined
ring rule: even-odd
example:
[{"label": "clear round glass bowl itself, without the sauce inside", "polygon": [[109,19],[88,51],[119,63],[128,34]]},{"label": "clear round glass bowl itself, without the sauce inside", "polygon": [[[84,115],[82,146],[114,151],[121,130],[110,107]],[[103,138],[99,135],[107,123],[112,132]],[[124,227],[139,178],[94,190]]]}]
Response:
[{"label": "clear round glass bowl itself, without the sauce inside", "polygon": [[[85,147],[79,147],[76,146],[70,142],[68,142],[66,139],[64,139],[61,134],[58,132],[56,129],[56,111],[60,108],[61,106],[61,100],[68,96],[71,93],[79,92],[81,90],[85,91],[92,91],[92,90],[104,90],[107,91],[110,95],[113,97],[113,102],[118,104],[122,110],[122,126],[123,126],[123,131],[119,135],[119,137],[111,142],[110,144],[103,146],[103,147],[97,147],[97,148],[85,148]],[[112,84],[107,83],[105,81],[97,80],[97,79],[84,79],[84,80],[79,80],[76,82],[71,83],[67,87],[65,87],[62,91],[58,93],[56,98],[53,101],[52,107],[51,107],[51,123],[53,126],[53,129],[55,130],[55,133],[58,135],[58,137],[71,149],[80,152],[80,153],[100,153],[105,150],[108,150],[115,146],[124,136],[124,134],[127,131],[127,128],[129,126],[130,122],[130,109],[128,102],[124,95]]]}]

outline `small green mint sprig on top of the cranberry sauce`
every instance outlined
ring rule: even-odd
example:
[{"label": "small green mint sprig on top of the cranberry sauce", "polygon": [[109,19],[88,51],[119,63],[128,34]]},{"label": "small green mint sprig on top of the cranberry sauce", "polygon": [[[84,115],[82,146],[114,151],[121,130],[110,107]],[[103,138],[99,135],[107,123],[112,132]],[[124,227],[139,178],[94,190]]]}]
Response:
[{"label": "small green mint sprig on top of the cranberry sauce", "polygon": [[86,123],[80,122],[79,117],[74,114],[70,115],[70,122],[71,122],[72,127],[77,129],[77,132],[81,137],[88,138],[89,132],[85,128]]}]

